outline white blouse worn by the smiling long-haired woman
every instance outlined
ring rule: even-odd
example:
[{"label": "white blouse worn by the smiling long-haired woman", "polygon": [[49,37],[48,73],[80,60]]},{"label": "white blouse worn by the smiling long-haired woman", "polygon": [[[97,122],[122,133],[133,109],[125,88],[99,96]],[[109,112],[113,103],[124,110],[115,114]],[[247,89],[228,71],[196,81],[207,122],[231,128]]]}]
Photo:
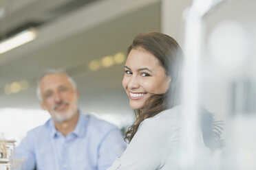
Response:
[{"label": "white blouse worn by the smiling long-haired woman", "polygon": [[[177,167],[182,107],[145,119],[120,158],[107,170],[156,170]],[[200,143],[203,144],[202,134]]]}]

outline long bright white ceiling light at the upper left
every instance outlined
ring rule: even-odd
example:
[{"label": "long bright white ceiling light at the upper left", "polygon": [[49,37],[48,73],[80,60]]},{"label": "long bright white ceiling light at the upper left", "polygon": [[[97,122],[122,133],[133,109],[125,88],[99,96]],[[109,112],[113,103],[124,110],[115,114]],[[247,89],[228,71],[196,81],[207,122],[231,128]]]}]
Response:
[{"label": "long bright white ceiling light at the upper left", "polygon": [[36,38],[36,29],[30,28],[0,42],[0,54],[19,47]]}]

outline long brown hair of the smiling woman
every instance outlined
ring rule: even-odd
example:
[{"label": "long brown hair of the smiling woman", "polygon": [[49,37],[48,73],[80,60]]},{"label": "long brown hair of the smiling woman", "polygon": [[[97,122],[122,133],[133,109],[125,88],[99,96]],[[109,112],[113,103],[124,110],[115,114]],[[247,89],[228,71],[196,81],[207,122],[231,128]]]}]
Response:
[{"label": "long brown hair of the smiling woman", "polygon": [[164,94],[153,94],[145,102],[145,106],[135,110],[136,121],[125,133],[125,140],[130,142],[136,134],[140,123],[149,117],[172,108],[179,102],[180,70],[182,66],[182,49],[171,36],[159,32],[149,32],[138,34],[127,49],[127,54],[131,49],[142,48],[152,53],[160,64],[164,67],[165,73],[171,77],[169,90]]}]

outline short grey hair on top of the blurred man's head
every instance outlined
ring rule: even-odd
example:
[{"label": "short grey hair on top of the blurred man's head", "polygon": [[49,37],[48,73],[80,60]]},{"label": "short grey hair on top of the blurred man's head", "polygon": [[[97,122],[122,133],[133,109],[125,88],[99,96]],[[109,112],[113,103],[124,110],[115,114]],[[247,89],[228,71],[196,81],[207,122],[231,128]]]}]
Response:
[{"label": "short grey hair on top of the blurred man's head", "polygon": [[43,73],[41,73],[41,75],[39,76],[38,80],[37,80],[37,86],[36,86],[36,95],[37,98],[39,99],[39,101],[42,101],[42,97],[41,97],[41,85],[40,82],[43,79],[43,77],[45,77],[46,75],[53,75],[53,74],[58,74],[58,75],[65,75],[67,77],[67,80],[70,81],[70,83],[72,84],[72,87],[74,90],[76,90],[76,82],[74,82],[74,80],[72,79],[72,77],[70,77],[70,75],[68,75],[64,69],[48,69],[46,71],[43,71]]}]

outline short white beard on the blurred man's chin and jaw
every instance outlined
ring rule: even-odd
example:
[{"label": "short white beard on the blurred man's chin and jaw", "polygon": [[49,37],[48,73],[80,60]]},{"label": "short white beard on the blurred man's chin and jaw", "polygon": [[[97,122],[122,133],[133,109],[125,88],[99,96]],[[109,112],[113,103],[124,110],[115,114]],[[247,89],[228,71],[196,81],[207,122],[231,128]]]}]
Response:
[{"label": "short white beard on the blurred man's chin and jaw", "polygon": [[55,112],[54,108],[52,108],[51,114],[52,114],[53,119],[55,121],[57,121],[58,123],[63,123],[64,121],[67,121],[70,118],[72,118],[78,110],[76,101],[77,101],[76,95],[71,103],[69,101],[63,101],[65,104],[70,105],[69,106],[70,108],[65,113]]}]

